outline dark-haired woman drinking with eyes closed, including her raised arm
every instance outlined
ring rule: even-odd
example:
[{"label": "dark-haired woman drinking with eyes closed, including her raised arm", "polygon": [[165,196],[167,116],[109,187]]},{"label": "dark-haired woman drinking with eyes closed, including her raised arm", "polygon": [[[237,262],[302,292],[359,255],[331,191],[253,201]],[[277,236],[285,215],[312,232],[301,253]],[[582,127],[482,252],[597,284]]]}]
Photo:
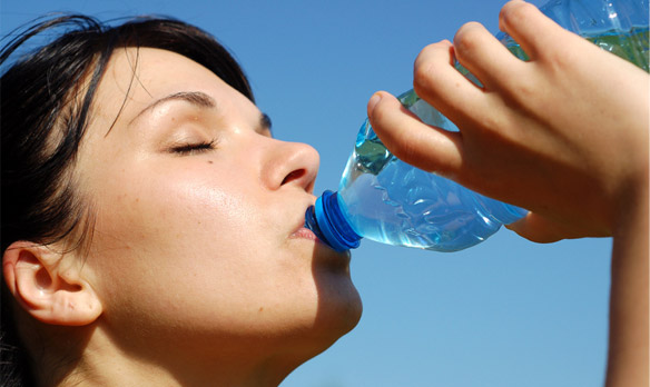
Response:
[{"label": "dark-haired woman drinking with eyes closed, including her raised arm", "polygon": [[[384,92],[368,117],[403,159],[532,209],[526,238],[612,235],[608,385],[647,385],[648,75],[522,1],[500,21],[530,62],[467,24],[415,63],[460,133]],[[361,312],[347,257],[302,228],[317,156],[268,137],[203,32],[86,29],[2,77],[3,327],[40,385],[279,383]]]}]

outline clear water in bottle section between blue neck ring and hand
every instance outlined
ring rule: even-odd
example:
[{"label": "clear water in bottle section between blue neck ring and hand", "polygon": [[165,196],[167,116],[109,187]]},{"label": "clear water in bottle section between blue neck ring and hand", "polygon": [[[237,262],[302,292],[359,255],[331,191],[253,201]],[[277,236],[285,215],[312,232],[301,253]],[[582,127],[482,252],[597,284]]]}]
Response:
[{"label": "clear water in bottle section between blue neck ring and hand", "polygon": [[364,125],[370,135],[360,137],[338,195],[344,212],[355,219],[355,231],[365,238],[455,251],[525,214],[401,161]]}]

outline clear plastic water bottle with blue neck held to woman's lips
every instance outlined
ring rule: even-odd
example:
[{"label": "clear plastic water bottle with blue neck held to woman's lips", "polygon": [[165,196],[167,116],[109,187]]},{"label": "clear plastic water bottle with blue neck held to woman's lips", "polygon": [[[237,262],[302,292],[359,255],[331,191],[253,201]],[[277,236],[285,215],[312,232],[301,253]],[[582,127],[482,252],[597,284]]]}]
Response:
[{"label": "clear plastic water bottle with blue neck held to woman's lips", "polygon": [[[647,0],[554,0],[540,10],[562,27],[648,71]],[[516,57],[528,60],[511,37],[501,32],[496,38]],[[479,83],[460,64],[456,68]],[[413,90],[398,99],[425,123],[457,130]],[[456,251],[485,240],[502,225],[525,214],[524,209],[401,161],[384,147],[366,119],[338,192],[325,191],[307,210],[305,225],[337,251],[358,247],[362,237],[396,246]]]}]

